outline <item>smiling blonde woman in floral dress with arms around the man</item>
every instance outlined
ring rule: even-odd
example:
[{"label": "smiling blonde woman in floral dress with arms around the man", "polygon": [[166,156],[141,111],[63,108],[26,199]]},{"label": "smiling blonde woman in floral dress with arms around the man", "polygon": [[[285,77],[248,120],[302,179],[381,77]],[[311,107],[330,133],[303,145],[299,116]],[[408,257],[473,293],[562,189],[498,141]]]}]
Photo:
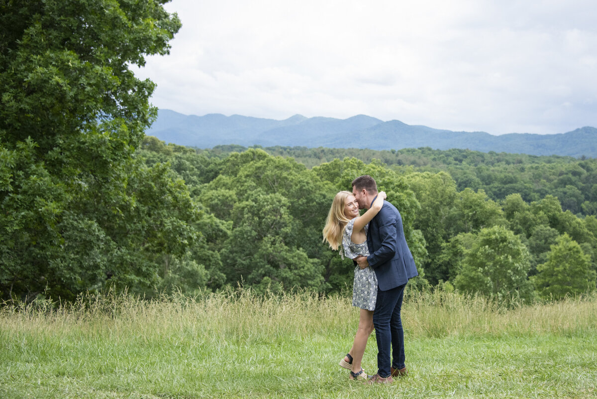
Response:
[{"label": "smiling blonde woman in floral dress with arms around the man", "polygon": [[[349,191],[340,191],[334,197],[330,213],[324,227],[324,242],[327,241],[333,250],[340,247],[340,255],[354,259],[362,255],[368,256],[367,229],[369,222],[379,212],[386,199],[386,193],[380,191],[371,208],[359,216],[359,204]],[[371,267],[361,269],[355,267],[355,279],[352,288],[352,306],[361,308],[359,327],[350,352],[340,360],[340,366],[350,370],[350,379],[368,379],[361,367],[367,339],[373,332],[373,311],[377,299],[377,278]]]}]

